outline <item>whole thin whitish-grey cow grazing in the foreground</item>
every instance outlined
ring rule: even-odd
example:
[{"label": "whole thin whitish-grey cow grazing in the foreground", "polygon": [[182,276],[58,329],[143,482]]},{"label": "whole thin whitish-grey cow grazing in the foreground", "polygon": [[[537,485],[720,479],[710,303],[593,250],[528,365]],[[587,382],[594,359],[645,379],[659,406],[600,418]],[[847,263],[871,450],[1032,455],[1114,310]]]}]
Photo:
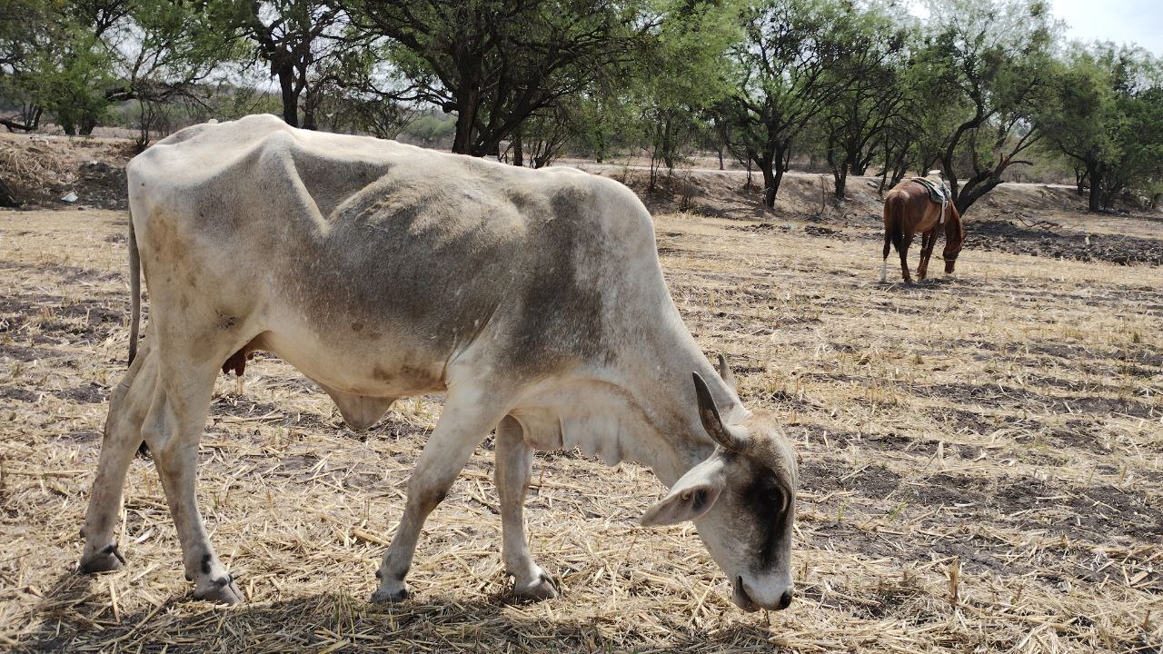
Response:
[{"label": "whole thin whitish-grey cow grazing in the foreground", "polygon": [[740,607],[791,602],[794,453],[771,414],[743,406],[726,362],[716,372],[699,350],[625,186],[273,116],[184,129],[135,157],[128,180],[130,261],[151,313],[110,394],[83,571],[124,563],[115,527],[144,441],[194,597],[242,599],[198,510],[198,443],[219,369],[266,350],[356,429],[397,398],[445,393],[373,602],[407,597],[424,519],[494,428],[518,596],[557,595],[525,534],[533,452],[579,447],[650,467],[670,491],[642,523],[693,520]]}]

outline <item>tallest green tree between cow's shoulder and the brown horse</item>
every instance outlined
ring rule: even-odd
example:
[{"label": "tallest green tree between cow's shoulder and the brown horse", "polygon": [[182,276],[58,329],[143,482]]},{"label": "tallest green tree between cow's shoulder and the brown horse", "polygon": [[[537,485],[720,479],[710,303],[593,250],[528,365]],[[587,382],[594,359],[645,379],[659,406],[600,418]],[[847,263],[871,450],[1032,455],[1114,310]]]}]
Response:
[{"label": "tallest green tree between cow's shoulder and the brown horse", "polygon": [[763,172],[769,207],[795,135],[844,88],[829,71],[852,38],[854,14],[827,0],[771,0],[744,12],[735,88],[719,111],[728,148]]}]

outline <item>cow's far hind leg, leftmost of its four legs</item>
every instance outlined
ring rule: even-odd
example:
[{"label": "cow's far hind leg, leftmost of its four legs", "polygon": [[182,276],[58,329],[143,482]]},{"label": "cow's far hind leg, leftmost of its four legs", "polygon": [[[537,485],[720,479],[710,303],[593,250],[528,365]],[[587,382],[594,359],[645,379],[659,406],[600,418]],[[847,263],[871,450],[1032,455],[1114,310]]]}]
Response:
[{"label": "cow's far hind leg, leftmost of its four legs", "polygon": [[109,393],[109,414],[105,420],[101,457],[85,513],[85,550],[81,553],[81,573],[116,570],[126,562],[117,549],[114,532],[121,513],[126,472],[134,453],[142,442],[142,421],[149,411],[157,382],[157,356],[145,339],[141,353],[124,378]]}]

